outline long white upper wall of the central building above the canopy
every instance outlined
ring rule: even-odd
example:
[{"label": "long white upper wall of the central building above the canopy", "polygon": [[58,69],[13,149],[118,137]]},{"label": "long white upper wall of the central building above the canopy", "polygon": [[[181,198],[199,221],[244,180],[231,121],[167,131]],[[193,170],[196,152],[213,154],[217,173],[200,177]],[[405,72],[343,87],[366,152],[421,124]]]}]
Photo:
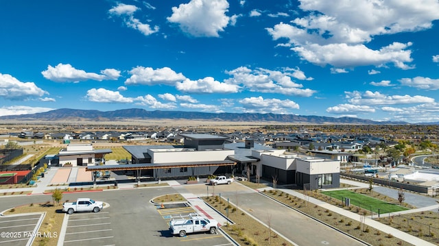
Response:
[{"label": "long white upper wall of the central building above the canopy", "polygon": [[176,151],[175,149],[148,149],[152,163],[172,162],[208,162],[210,160],[226,160],[235,154],[233,150]]}]

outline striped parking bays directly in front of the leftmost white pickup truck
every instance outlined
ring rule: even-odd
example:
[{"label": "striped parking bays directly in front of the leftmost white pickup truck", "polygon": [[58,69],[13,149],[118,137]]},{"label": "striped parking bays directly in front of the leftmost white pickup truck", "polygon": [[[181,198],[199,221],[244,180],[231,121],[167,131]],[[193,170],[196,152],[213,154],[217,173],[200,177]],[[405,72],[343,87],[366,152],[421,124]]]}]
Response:
[{"label": "striped parking bays directly in front of the leftmost white pickup truck", "polygon": [[67,218],[64,245],[114,245],[110,212],[83,212]]}]

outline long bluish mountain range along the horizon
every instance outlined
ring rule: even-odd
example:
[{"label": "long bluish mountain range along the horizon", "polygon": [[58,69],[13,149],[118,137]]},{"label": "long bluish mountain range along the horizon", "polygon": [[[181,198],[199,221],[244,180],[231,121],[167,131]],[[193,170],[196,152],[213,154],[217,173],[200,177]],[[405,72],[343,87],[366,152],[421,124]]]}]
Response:
[{"label": "long bluish mountain range along the horizon", "polygon": [[191,119],[206,121],[275,121],[282,123],[333,123],[333,124],[366,124],[366,125],[385,125],[385,124],[407,124],[405,122],[393,121],[370,121],[353,117],[327,117],[327,116],[302,116],[294,114],[239,114],[239,113],[206,113],[206,112],[185,112],[185,111],[147,111],[140,108],[130,108],[126,110],[99,111],[99,110],[75,110],[61,108],[37,114],[21,114],[0,116],[0,119],[11,120],[38,120],[38,121],[117,121],[126,119]]}]

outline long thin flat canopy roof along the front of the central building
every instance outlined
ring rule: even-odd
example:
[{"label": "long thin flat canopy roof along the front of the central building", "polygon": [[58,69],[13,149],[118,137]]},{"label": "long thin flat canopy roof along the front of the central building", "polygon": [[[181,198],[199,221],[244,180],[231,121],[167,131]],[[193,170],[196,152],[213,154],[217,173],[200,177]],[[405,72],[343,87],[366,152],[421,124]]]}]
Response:
[{"label": "long thin flat canopy roof along the front of the central building", "polygon": [[171,162],[171,163],[141,163],[119,165],[96,165],[86,167],[86,171],[111,171],[111,170],[143,170],[143,169],[171,169],[178,167],[209,167],[230,166],[236,162],[231,160],[212,160],[206,162]]}]

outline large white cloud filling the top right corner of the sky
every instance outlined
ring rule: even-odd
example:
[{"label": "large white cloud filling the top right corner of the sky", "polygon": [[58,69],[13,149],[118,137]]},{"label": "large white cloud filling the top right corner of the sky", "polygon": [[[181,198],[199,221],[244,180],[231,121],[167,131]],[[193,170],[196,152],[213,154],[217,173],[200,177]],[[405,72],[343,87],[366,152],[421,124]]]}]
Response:
[{"label": "large white cloud filling the top right corner of the sky", "polygon": [[314,30],[309,35],[329,33],[326,42],[363,43],[372,36],[429,29],[439,19],[439,2],[301,0],[308,16],[294,20],[297,27]]}]

